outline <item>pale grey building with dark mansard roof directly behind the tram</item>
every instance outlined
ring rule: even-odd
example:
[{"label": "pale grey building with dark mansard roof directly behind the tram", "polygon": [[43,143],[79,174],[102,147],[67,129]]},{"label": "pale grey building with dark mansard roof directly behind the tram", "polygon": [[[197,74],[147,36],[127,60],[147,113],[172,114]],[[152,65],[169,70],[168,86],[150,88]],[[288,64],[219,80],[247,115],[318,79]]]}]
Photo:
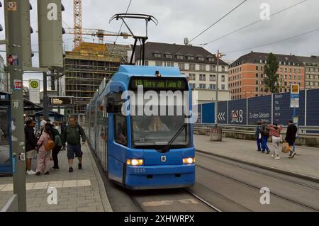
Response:
[{"label": "pale grey building with dark mansard roof directly behind the tram", "polygon": [[[140,60],[138,47],[135,61]],[[177,45],[168,43],[145,44],[145,65],[179,67],[182,74],[189,79],[191,89],[216,90],[217,61],[216,57],[203,47]],[[228,64],[219,60],[219,90],[228,90]]]}]

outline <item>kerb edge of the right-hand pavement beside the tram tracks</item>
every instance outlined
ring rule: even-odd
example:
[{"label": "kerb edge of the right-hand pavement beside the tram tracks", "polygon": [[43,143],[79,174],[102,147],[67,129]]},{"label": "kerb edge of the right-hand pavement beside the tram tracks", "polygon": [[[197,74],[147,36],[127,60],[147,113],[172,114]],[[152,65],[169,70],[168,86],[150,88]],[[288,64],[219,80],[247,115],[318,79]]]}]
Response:
[{"label": "kerb edge of the right-hand pavement beside the tram tracks", "polygon": [[203,150],[199,150],[199,149],[196,149],[196,152],[201,152],[201,153],[204,153],[204,154],[210,154],[210,155],[213,155],[213,156],[216,156],[216,157],[220,157],[220,158],[223,158],[223,159],[232,160],[234,162],[240,162],[240,163],[243,163],[243,164],[248,164],[250,166],[256,166],[256,167],[259,167],[259,168],[262,168],[262,169],[268,169],[270,171],[274,171],[274,172],[277,172],[277,173],[285,174],[285,175],[288,175],[288,176],[295,176],[295,177],[297,177],[299,179],[306,179],[308,181],[313,181],[313,182],[319,183],[319,179],[315,178],[315,177],[312,177],[312,176],[306,176],[306,175],[303,175],[303,174],[296,174],[296,173],[293,173],[293,172],[284,171],[283,169],[276,169],[276,168],[273,168],[273,167],[270,167],[270,166],[264,166],[264,165],[261,165],[261,164],[255,164],[255,163],[247,162],[247,161],[241,160],[241,159],[234,159],[232,157],[226,157],[226,156],[223,156],[223,155],[220,155],[220,154],[215,154],[215,153],[211,153],[211,152],[207,152],[207,151],[203,151]]}]

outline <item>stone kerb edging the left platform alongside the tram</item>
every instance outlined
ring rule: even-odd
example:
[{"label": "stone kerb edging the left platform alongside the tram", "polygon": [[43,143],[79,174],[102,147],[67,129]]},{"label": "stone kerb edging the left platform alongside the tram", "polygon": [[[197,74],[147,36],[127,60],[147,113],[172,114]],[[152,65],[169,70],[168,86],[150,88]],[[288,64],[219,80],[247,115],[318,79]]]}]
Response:
[{"label": "stone kerb edging the left platform alongside the tram", "polygon": [[108,195],[106,193],[106,188],[104,186],[103,179],[101,177],[101,174],[99,174],[99,169],[96,166],[96,161],[95,161],[94,156],[93,156],[93,154],[91,152],[91,148],[89,147],[89,144],[87,142],[86,142],[86,149],[89,152],[90,161],[91,161],[91,164],[93,166],[94,174],[95,174],[96,179],[98,181],[99,193],[100,193],[100,196],[101,196],[101,201],[102,201],[102,205],[103,205],[104,211],[105,212],[113,212],[111,204],[108,201]]}]

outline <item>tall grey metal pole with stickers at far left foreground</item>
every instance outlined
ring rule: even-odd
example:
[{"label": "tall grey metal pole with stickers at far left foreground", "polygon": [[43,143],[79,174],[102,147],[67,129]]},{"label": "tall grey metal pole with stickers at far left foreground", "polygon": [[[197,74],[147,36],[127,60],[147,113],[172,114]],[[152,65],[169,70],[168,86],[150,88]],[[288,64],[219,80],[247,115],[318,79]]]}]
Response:
[{"label": "tall grey metal pole with stickers at far left foreground", "polygon": [[21,9],[22,1],[15,1],[16,7],[9,11],[8,1],[4,5],[7,15],[6,34],[8,45],[6,45],[7,59],[11,84],[11,141],[13,162],[16,167],[13,171],[13,193],[18,195],[18,211],[26,212],[26,151],[24,149],[25,135],[23,122],[23,60],[22,60],[22,34],[21,34]]}]

